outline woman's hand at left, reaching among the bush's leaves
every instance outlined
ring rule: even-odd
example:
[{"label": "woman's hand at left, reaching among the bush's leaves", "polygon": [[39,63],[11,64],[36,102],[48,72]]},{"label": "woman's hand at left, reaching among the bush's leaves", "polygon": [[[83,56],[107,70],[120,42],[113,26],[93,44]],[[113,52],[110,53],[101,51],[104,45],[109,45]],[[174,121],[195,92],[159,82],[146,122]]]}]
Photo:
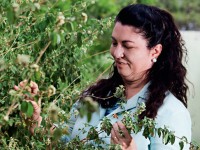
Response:
[{"label": "woman's hand at left, reaching among the bush's leaves", "polygon": [[30,118],[30,120],[35,123],[32,123],[29,128],[30,132],[33,134],[35,127],[37,127],[37,126],[39,127],[42,122],[42,117],[40,116],[41,108],[39,107],[37,102],[35,102],[33,99],[33,97],[38,94],[38,91],[39,91],[38,85],[37,85],[37,83],[35,83],[33,81],[30,81],[30,84],[28,84],[28,81],[24,80],[24,81],[21,81],[18,86],[15,85],[14,89],[16,91],[25,89],[28,92],[30,92],[30,94],[31,94],[31,97],[27,96],[27,95],[24,95],[24,97],[25,97],[26,101],[31,102],[31,104],[33,105],[33,115]]}]

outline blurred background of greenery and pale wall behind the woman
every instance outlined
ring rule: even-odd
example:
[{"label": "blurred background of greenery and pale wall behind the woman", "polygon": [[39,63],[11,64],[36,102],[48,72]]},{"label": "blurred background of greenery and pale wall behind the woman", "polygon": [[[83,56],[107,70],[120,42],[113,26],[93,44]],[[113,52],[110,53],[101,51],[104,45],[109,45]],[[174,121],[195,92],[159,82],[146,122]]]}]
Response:
[{"label": "blurred background of greenery and pale wall behind the woman", "polygon": [[[124,6],[131,3],[143,3],[158,6],[165,9],[174,16],[175,22],[181,31],[188,49],[188,79],[190,92],[188,93],[188,109],[192,118],[192,140],[200,143],[200,1],[199,0],[97,0],[95,7],[88,9],[89,18],[114,17]],[[96,45],[89,52],[88,59],[85,60],[89,66],[86,78],[101,78],[109,73],[112,59],[109,55],[110,35],[112,28],[107,30],[98,38]],[[95,67],[94,67],[95,66]]]}]

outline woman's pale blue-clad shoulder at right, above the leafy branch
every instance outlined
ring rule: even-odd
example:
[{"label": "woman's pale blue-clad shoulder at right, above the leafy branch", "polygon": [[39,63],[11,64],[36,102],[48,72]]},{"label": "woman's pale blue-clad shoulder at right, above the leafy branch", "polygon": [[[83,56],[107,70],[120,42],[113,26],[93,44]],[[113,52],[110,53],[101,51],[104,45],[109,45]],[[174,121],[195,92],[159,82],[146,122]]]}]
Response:
[{"label": "woman's pale blue-clad shoulder at right, above the leafy branch", "polygon": [[[177,137],[185,136],[188,142],[191,141],[192,124],[190,113],[183,103],[171,92],[166,93],[164,102],[159,108],[155,120],[158,128],[163,128],[165,126],[173,131]],[[161,139],[157,137],[155,140]],[[178,142],[176,142],[174,146],[178,148]],[[189,149],[188,144],[185,146],[185,149]]]}]

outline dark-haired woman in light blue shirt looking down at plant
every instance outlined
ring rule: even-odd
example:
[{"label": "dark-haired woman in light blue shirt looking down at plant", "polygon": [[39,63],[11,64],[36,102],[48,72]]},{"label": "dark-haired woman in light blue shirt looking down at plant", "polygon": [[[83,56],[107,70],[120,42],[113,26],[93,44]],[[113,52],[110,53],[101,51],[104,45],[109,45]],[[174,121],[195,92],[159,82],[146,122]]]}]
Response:
[{"label": "dark-haired woman in light blue shirt looking down at plant", "polygon": [[[146,139],[142,132],[128,133],[120,122],[123,117],[121,112],[134,113],[138,104],[145,102],[146,110],[140,115],[141,119],[144,116],[153,118],[157,127],[167,126],[177,137],[185,136],[190,141],[191,119],[186,109],[188,86],[185,83],[186,69],[182,64],[186,50],[172,16],[164,10],[143,4],[123,8],[115,19],[110,52],[114,58],[113,74],[82,94],[82,99],[87,95],[100,97],[94,98],[99,103],[99,110],[92,114],[89,124],[100,130],[101,119],[105,116],[113,124],[109,136],[106,137],[103,132],[99,137],[105,143],[120,144],[123,149],[180,149],[178,139],[173,145],[164,145],[158,135]],[[127,103],[124,109],[118,107],[117,98],[101,99],[113,95],[119,85],[125,87]],[[80,102],[75,103],[71,110],[70,132],[71,138],[79,135],[80,139],[84,139],[90,128],[84,126],[87,119],[73,116]],[[37,104],[32,103],[38,110]],[[113,117],[113,114],[118,117]],[[40,124],[40,110],[34,111],[33,119]],[[81,133],[79,128],[84,128],[86,133]],[[184,149],[189,149],[189,145],[185,145]]]}]

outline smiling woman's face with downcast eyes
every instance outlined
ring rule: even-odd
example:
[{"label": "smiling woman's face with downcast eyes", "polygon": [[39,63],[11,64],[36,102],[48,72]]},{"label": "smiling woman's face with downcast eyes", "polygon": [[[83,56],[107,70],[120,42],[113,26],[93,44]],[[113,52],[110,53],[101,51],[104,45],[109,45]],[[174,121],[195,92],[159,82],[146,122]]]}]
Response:
[{"label": "smiling woman's face with downcast eyes", "polygon": [[147,48],[147,40],[137,31],[117,22],[112,32],[110,52],[119,74],[127,81],[140,79],[153,65],[153,50]]}]

